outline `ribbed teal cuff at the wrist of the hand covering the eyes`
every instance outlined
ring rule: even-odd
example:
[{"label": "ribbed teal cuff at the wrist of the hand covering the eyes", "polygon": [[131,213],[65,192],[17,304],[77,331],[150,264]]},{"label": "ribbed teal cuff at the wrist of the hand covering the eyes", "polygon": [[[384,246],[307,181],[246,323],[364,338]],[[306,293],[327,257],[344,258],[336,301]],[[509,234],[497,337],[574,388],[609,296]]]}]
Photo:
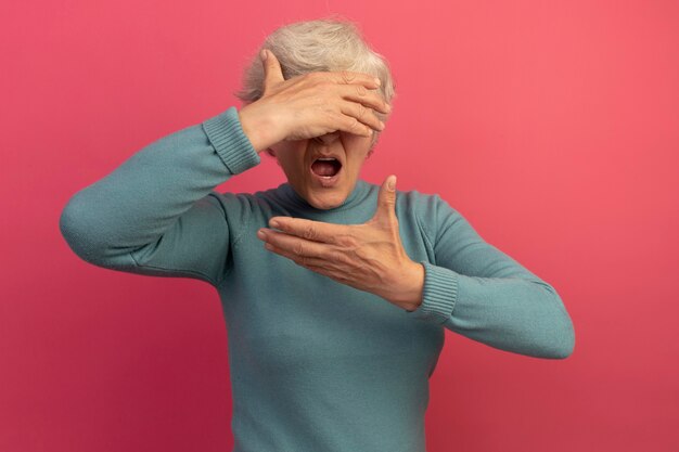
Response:
[{"label": "ribbed teal cuff at the wrist of the hand covering the eyes", "polygon": [[261,159],[253,147],[234,106],[203,121],[203,130],[232,175],[259,165]]}]

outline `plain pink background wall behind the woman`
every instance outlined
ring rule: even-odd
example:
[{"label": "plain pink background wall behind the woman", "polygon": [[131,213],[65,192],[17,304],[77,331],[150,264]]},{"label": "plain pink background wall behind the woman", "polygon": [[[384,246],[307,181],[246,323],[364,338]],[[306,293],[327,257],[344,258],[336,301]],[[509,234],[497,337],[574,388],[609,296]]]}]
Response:
[{"label": "plain pink background wall behind the woman", "polygon": [[[145,144],[240,107],[264,37],[328,12],[397,81],[363,178],[439,193],[575,324],[564,361],[446,332],[428,452],[679,450],[679,3],[235,4],[2,3],[0,451],[231,449],[216,292],[90,266],[59,216]],[[218,190],[283,180],[266,158]]]}]

